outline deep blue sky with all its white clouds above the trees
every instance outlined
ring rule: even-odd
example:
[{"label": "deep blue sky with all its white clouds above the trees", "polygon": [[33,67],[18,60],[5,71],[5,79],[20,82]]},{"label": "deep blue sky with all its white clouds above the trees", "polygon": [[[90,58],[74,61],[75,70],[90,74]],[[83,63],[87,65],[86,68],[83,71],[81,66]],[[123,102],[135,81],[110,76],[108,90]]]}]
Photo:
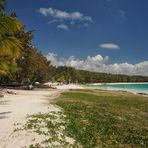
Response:
[{"label": "deep blue sky with all its white clouds above the trees", "polygon": [[8,0],[56,66],[148,76],[148,0]]}]

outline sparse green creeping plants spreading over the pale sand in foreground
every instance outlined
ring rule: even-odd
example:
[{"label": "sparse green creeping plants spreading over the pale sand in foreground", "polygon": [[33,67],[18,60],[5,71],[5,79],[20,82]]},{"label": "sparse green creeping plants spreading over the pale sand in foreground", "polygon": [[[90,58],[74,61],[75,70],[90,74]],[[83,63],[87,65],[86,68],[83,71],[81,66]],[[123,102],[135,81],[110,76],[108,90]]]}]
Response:
[{"label": "sparse green creeping plants spreading over the pale sand in foreground", "polygon": [[29,148],[80,147],[74,139],[67,136],[66,121],[65,115],[61,111],[38,113],[29,115],[26,124],[21,128],[16,128],[14,132],[35,132],[42,137],[40,142],[36,141]]}]

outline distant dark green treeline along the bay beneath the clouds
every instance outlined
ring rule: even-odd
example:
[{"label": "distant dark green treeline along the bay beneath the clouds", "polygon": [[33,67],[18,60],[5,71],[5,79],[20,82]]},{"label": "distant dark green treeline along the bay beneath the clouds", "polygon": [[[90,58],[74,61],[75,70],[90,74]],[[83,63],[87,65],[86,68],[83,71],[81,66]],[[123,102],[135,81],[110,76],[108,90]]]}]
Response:
[{"label": "distant dark green treeline along the bay beneath the clouds", "polygon": [[115,83],[148,82],[148,77],[107,74],[78,70],[72,67],[57,67],[52,71],[52,79],[67,83]]}]

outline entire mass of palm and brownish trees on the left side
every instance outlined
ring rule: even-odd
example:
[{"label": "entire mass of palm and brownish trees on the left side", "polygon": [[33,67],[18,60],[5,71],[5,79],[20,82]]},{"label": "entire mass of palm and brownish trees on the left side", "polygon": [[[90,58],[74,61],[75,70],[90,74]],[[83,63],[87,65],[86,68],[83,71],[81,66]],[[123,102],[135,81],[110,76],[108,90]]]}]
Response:
[{"label": "entire mass of palm and brownish trees on the left side", "polygon": [[4,13],[5,4],[5,0],[0,1],[1,83],[48,81],[50,62],[32,45],[32,31],[25,32],[15,13]]}]

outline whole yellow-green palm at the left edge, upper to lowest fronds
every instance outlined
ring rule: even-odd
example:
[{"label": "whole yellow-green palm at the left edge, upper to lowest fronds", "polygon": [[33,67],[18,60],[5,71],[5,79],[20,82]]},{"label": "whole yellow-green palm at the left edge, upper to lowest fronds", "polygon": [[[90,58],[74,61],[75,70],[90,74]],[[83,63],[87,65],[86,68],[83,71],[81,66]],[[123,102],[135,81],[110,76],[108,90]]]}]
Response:
[{"label": "whole yellow-green palm at the left edge, upper to lowest fronds", "polygon": [[4,14],[5,0],[0,1],[0,75],[9,73],[12,63],[20,55],[22,48],[15,34],[23,29],[23,24]]}]

